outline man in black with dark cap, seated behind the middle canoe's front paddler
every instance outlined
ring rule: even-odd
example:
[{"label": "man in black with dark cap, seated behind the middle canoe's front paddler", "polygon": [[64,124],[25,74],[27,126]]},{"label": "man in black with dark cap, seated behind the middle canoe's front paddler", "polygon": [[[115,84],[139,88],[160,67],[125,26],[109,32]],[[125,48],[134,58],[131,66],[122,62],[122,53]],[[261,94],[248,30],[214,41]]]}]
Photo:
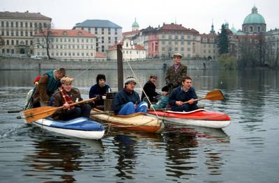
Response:
[{"label": "man in black with dark cap, seated behind the middle canoe's front paddler", "polygon": [[[157,81],[156,74],[151,74],[150,78],[149,78],[149,81],[147,81],[144,84],[144,88],[143,88],[143,91],[142,91],[142,98],[141,98],[142,101],[144,100],[144,98],[147,95],[150,102],[156,102],[156,96],[159,95],[158,93],[156,93],[156,81]],[[146,95],[144,94],[144,92],[146,93]]]}]

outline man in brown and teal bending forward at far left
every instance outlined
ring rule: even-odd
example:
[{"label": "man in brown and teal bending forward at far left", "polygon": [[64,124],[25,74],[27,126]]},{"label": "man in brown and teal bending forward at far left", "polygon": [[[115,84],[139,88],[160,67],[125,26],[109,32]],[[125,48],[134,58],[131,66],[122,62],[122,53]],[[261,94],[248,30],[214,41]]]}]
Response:
[{"label": "man in brown and teal bending forward at far left", "polygon": [[57,84],[60,79],[64,77],[66,70],[60,68],[59,70],[51,70],[43,74],[43,77],[40,79],[38,86],[36,86],[36,92],[33,96],[34,103],[37,103],[36,106],[46,106],[50,100],[50,97],[58,88]]}]

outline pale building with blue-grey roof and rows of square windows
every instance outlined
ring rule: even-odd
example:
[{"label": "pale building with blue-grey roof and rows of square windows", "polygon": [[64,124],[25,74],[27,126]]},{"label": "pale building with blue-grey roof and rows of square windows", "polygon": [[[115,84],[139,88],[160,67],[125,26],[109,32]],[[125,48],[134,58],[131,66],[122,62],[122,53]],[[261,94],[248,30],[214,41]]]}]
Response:
[{"label": "pale building with blue-grey roof and rows of square windows", "polygon": [[73,29],[85,30],[96,35],[96,51],[106,54],[110,46],[122,40],[122,27],[106,19],[86,19]]}]

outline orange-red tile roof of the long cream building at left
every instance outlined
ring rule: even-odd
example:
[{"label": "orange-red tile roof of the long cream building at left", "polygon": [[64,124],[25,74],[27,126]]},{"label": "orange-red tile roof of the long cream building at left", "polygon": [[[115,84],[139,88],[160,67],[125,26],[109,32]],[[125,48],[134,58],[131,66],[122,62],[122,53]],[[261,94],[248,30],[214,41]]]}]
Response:
[{"label": "orange-red tile roof of the long cream building at left", "polygon": [[[47,29],[44,29],[47,31]],[[72,30],[72,29],[50,29],[52,37],[95,37],[94,34],[84,30]],[[43,36],[43,33],[36,33],[34,36]]]}]

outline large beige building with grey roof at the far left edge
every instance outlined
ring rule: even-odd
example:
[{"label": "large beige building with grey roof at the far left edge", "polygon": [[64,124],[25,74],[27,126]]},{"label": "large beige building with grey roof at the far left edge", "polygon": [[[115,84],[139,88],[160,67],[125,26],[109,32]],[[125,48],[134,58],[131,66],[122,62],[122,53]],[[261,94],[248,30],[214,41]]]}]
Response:
[{"label": "large beige building with grey roof at the far left edge", "polygon": [[50,26],[52,19],[40,13],[0,12],[2,56],[33,55],[33,35]]}]

